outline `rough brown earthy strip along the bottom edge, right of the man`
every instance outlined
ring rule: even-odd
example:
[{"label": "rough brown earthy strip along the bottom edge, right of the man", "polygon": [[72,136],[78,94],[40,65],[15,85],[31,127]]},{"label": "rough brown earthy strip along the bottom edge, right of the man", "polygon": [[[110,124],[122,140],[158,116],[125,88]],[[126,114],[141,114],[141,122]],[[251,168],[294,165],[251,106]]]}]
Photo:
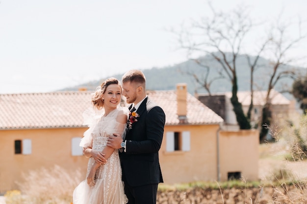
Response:
[{"label": "rough brown earthy strip along the bottom edge, right of the man", "polygon": [[[298,197],[300,197],[299,202],[306,204],[306,194],[300,196],[298,189],[300,188],[294,186],[270,186],[221,190],[200,187],[188,190],[166,190],[158,191],[157,204],[268,204],[273,201],[274,203],[296,204]],[[296,198],[293,198],[294,195]]]}]

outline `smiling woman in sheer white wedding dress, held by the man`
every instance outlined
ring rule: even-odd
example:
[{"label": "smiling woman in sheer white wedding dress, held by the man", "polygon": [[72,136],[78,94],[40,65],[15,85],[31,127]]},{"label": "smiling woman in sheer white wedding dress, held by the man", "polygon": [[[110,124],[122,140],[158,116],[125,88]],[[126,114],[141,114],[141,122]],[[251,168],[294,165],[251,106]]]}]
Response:
[{"label": "smiling woman in sheer white wedding dress, held by the man", "polygon": [[[126,204],[118,150],[106,146],[108,135],[125,134],[128,108],[119,106],[122,86],[115,78],[102,83],[91,101],[93,108],[83,113],[89,126],[81,139],[83,154],[89,158],[86,180],[73,193],[74,204]],[[101,157],[102,156],[102,157]],[[105,158],[98,163],[94,157]]]}]

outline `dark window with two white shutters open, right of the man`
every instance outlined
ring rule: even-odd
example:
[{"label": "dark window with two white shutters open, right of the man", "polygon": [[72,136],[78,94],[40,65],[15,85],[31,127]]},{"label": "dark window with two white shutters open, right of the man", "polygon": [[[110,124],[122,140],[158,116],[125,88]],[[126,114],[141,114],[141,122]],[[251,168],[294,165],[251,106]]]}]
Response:
[{"label": "dark window with two white shutters open, right of the man", "polygon": [[190,132],[167,132],[166,151],[190,151]]}]

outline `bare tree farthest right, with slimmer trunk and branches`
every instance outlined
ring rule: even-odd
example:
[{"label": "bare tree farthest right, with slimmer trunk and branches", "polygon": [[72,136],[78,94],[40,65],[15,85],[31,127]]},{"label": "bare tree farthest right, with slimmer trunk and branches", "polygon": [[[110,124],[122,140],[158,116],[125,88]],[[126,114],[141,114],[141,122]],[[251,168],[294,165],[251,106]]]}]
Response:
[{"label": "bare tree farthest right, with slimmer trunk and branches", "polygon": [[[295,23],[296,24],[296,23]],[[265,136],[268,133],[266,127],[271,125],[271,91],[276,86],[277,82],[282,78],[292,78],[295,79],[296,72],[294,69],[285,68],[285,66],[290,65],[295,62],[296,58],[289,57],[289,52],[295,48],[298,43],[307,38],[307,33],[301,33],[302,22],[298,23],[298,36],[292,37],[288,35],[291,25],[293,22],[285,21],[281,22],[281,17],[278,18],[277,23],[271,26],[271,32],[268,35],[270,39],[270,44],[266,50],[267,54],[271,56],[271,70],[268,71],[268,87],[267,95],[265,99],[265,105],[262,108],[262,121],[261,121],[261,132],[260,132],[260,142],[263,142]]]}]

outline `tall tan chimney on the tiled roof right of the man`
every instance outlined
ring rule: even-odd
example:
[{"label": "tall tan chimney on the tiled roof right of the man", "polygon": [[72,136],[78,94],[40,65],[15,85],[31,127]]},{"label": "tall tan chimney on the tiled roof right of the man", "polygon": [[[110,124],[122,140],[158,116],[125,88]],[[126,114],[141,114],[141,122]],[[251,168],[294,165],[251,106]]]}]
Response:
[{"label": "tall tan chimney on the tiled roof right of the man", "polygon": [[187,117],[186,117],[186,96],[187,96],[187,90],[186,90],[186,84],[177,84],[177,114],[179,123],[187,123]]}]

